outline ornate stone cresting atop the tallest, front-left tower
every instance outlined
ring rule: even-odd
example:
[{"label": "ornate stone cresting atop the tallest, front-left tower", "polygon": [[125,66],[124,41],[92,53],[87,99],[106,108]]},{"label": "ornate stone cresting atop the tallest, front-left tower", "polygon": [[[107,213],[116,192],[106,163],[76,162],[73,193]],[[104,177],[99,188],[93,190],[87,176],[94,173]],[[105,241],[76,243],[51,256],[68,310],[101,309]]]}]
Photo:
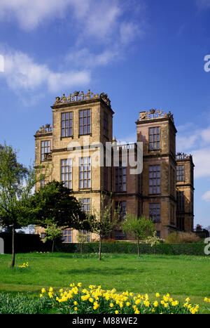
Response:
[{"label": "ornate stone cresting atop the tallest, front-left tower", "polygon": [[90,89],[87,91],[87,93],[84,93],[83,91],[74,91],[74,93],[69,93],[69,97],[66,97],[65,94],[63,94],[61,98],[56,97],[54,105],[97,98],[101,98],[102,100],[104,100],[104,103],[106,103],[106,105],[111,107],[111,101],[109,100],[109,97],[106,93],[102,92],[100,93],[100,95],[99,93],[94,94],[90,91]]}]

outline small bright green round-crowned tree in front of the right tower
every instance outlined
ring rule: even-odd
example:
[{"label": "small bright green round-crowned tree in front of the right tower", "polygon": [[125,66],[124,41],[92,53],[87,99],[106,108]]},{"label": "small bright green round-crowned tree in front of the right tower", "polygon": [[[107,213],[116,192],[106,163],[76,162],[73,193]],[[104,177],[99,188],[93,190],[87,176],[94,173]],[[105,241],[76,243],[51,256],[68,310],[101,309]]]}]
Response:
[{"label": "small bright green round-crowned tree in front of the right tower", "polygon": [[139,241],[146,240],[146,237],[153,234],[155,230],[155,225],[151,218],[145,218],[145,216],[141,216],[138,218],[133,214],[126,214],[125,221],[122,224],[123,231],[132,231],[134,232],[135,238],[137,240],[137,251],[138,256],[140,256],[139,252]]}]

